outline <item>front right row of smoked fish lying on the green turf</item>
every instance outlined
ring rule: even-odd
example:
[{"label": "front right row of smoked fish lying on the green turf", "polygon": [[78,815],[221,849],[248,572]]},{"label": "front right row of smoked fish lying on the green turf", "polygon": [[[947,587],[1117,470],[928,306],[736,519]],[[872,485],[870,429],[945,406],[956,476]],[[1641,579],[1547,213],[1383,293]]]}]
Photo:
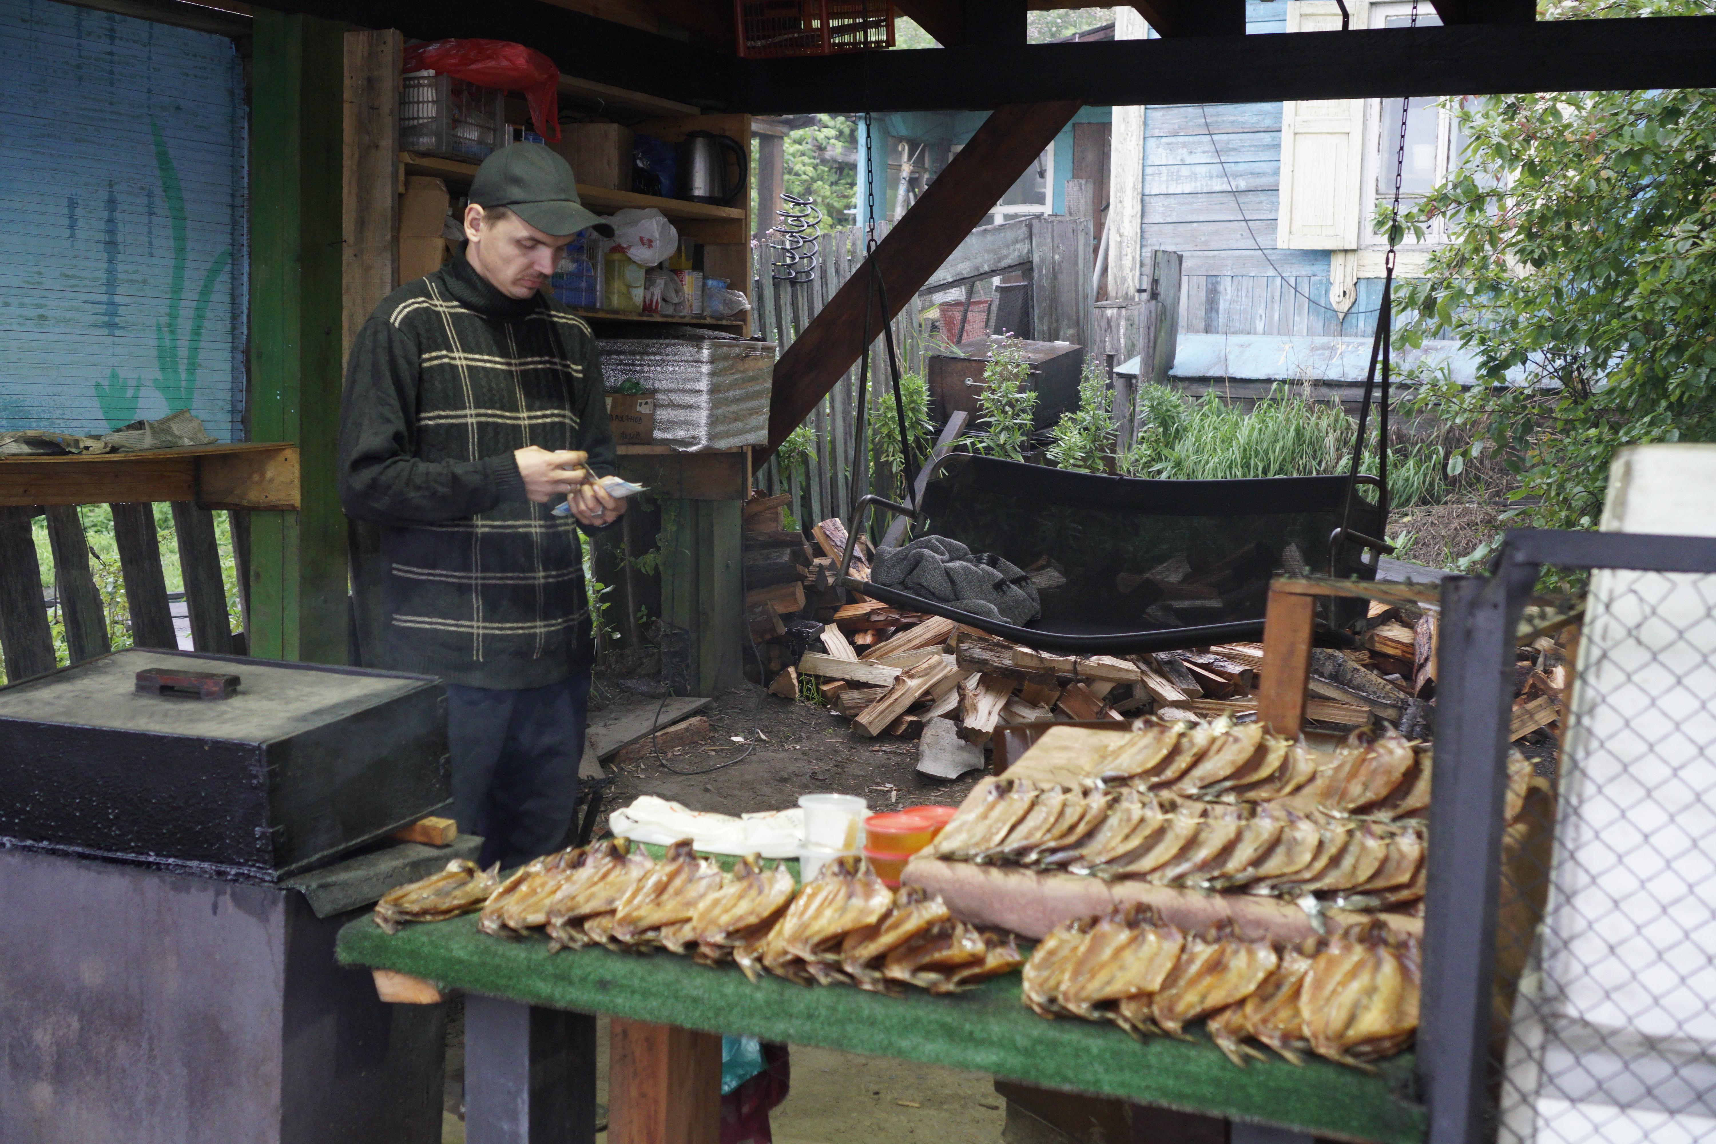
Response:
[{"label": "front right row of smoked fish lying on the green turf", "polygon": [[1210,1039],[1244,1067],[1266,1045],[1292,1063],[1311,1051],[1369,1069],[1412,1043],[1419,942],[1373,919],[1326,938],[1244,940],[1230,923],[1186,933],[1150,906],[1052,930],[1024,966],[1024,1003],[1043,1017],[1112,1021],[1133,1036]]}]

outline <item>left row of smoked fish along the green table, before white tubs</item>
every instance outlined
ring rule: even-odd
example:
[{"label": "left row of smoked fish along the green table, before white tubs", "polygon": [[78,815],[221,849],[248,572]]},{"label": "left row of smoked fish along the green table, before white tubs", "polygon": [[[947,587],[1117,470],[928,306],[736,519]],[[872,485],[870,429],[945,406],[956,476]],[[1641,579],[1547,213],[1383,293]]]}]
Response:
[{"label": "left row of smoked fish along the green table, before white tubs", "polygon": [[1023,964],[1012,936],[958,921],[937,895],[889,890],[860,859],[843,858],[795,887],[781,866],[741,858],[733,870],[698,858],[690,840],[657,861],[623,839],[537,858],[505,882],[455,861],[376,904],[390,933],[407,921],[482,911],[492,936],[542,930],[551,948],[664,948],[697,962],[734,962],[800,984],[856,984],[894,993],[915,984],[952,993]]}]

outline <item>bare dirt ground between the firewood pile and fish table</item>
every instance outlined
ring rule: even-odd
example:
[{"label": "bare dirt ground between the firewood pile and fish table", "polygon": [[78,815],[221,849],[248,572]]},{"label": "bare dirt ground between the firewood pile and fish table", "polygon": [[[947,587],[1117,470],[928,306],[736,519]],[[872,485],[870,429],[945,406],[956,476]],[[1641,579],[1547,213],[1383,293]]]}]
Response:
[{"label": "bare dirt ground between the firewood pile and fish table", "polygon": [[[647,710],[657,703],[618,686],[604,689],[614,696],[609,710],[628,705]],[[952,782],[927,779],[915,770],[916,743],[891,736],[867,739],[822,707],[782,700],[755,684],[716,696],[714,708],[704,713],[710,724],[707,743],[668,751],[661,760],[609,767],[616,782],[606,808],[656,794],[692,810],[743,815],[798,806],[800,794],[819,791],[856,794],[873,811],[925,803],[958,806],[982,775],[970,772]],[[674,774],[710,767],[719,770]]]}]

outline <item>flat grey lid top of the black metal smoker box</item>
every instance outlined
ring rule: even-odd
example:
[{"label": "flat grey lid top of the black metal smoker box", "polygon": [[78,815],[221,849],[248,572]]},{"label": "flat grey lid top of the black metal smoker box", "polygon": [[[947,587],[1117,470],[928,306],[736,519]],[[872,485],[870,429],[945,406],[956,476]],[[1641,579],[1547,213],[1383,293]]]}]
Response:
[{"label": "flat grey lid top of the black metal smoker box", "polygon": [[[136,677],[146,667],[233,674],[239,691],[227,700],[142,695]],[[0,719],[271,743],[431,683],[350,667],[127,648],[0,689]]]}]

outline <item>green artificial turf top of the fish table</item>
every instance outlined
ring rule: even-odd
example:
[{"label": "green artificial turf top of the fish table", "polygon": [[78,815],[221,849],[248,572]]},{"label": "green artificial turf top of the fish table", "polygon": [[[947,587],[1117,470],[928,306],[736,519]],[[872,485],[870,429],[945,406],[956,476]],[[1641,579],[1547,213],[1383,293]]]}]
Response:
[{"label": "green artificial turf top of the fish table", "polygon": [[956,996],[909,990],[892,998],[779,978],[752,984],[734,966],[710,969],[661,950],[549,954],[541,938],[479,933],[475,914],[396,935],[366,916],[340,931],[338,957],[547,1009],[897,1057],[1313,1135],[1424,1139],[1424,1108],[1409,1098],[1411,1055],[1383,1062],[1375,1075],[1318,1058],[1304,1067],[1272,1058],[1237,1069],[1201,1033],[1196,1041],[1139,1043],[1107,1024],[1045,1021],[1019,1002],[1016,972]]}]

